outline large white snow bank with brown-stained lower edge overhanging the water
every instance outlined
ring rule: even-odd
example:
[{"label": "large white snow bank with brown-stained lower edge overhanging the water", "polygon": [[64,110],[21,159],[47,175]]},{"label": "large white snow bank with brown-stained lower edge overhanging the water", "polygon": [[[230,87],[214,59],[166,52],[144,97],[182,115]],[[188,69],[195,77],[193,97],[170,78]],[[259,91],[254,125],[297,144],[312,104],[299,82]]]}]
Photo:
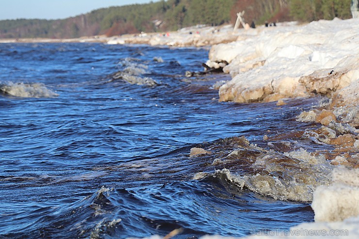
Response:
[{"label": "large white snow bank with brown-stained lower edge overhanging the water", "polygon": [[220,101],[331,96],[349,85],[358,92],[358,23],[358,19],[334,19],[269,27],[213,46],[207,64],[228,64],[224,72],[233,78],[219,89]]}]

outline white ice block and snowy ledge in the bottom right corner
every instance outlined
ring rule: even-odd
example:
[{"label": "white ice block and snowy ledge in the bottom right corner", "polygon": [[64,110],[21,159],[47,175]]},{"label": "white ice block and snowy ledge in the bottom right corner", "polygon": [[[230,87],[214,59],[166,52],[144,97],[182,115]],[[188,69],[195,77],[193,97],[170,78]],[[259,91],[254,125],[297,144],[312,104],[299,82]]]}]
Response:
[{"label": "white ice block and snowy ledge in the bottom right corner", "polygon": [[[268,232],[247,239],[357,239],[359,238],[359,169],[337,167],[329,187],[314,192],[314,223],[301,223],[288,232]],[[202,237],[201,239],[216,237]],[[218,238],[218,237],[217,237]]]}]

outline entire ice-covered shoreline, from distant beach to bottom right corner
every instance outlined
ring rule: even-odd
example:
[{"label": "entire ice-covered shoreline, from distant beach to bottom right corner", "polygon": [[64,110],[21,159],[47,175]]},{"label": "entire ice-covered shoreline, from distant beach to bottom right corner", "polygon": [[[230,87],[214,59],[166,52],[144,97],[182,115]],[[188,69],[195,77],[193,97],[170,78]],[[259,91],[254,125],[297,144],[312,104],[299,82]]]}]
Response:
[{"label": "entire ice-covered shoreline, from distant beach to bottom right corner", "polygon": [[[298,121],[315,122],[318,126],[302,133],[335,146],[327,158],[335,165],[330,185],[319,186],[313,193],[315,222],[301,223],[287,232],[254,232],[249,238],[359,238],[359,19],[288,22],[237,31],[230,25],[195,26],[177,32],[120,37],[0,39],[0,43],[15,42],[209,46],[206,64],[223,68],[232,77],[219,87],[220,101],[277,101],[278,106],[285,107],[288,98],[327,97],[326,104],[318,102],[318,107],[297,117]],[[264,135],[263,140],[266,139]],[[196,149],[191,155],[197,151],[206,152]],[[202,237],[210,238],[222,237]]]}]

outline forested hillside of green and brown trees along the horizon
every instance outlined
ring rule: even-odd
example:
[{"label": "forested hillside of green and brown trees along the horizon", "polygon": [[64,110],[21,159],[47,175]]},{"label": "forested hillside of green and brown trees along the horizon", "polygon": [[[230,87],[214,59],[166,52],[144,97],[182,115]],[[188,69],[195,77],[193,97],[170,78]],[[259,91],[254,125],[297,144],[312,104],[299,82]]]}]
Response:
[{"label": "forested hillside of green and brown trees along the horizon", "polygon": [[57,20],[16,19],[0,21],[0,38],[73,38],[174,31],[197,24],[234,23],[245,10],[245,20],[313,21],[350,18],[350,0],[160,0],[94,10]]}]

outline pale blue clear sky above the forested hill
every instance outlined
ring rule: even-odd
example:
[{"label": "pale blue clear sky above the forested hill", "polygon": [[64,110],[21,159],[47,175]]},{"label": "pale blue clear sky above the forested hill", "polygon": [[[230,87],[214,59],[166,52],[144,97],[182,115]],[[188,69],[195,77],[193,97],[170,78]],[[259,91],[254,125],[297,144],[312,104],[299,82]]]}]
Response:
[{"label": "pale blue clear sky above the forested hill", "polygon": [[[0,20],[17,18],[59,19],[98,8],[149,3],[151,0],[0,0]],[[157,0],[152,0],[157,1]]]}]

